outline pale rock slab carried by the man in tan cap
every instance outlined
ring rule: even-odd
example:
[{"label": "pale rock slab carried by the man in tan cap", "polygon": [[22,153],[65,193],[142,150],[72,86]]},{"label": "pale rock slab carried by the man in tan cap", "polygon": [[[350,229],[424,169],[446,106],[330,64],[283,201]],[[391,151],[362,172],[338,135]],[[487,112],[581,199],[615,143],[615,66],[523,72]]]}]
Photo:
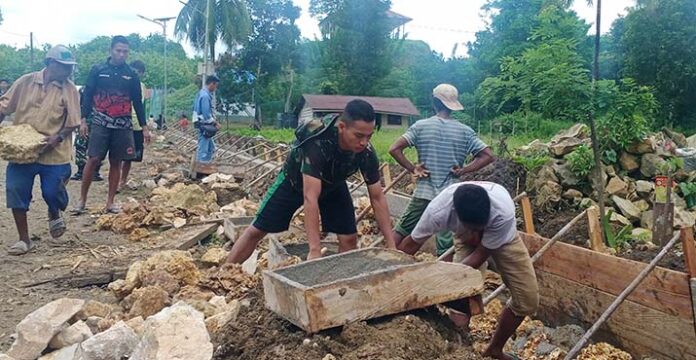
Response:
[{"label": "pale rock slab carried by the man in tan cap", "polygon": [[39,159],[46,145],[46,136],[29,124],[0,127],[0,158],[18,164]]}]

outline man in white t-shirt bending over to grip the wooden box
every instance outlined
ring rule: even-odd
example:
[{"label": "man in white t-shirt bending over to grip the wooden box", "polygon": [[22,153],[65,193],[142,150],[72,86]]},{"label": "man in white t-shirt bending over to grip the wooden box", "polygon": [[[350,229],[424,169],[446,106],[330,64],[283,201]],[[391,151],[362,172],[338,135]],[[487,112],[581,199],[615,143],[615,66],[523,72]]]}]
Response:
[{"label": "man in white t-shirt bending over to grip the wooden box", "polygon": [[[454,233],[455,262],[485,271],[488,257],[495,261],[512,296],[483,356],[514,359],[503,352],[503,346],[525,316],[536,312],[539,287],[529,252],[517,235],[515,204],[510,194],[492,182],[450,185],[430,202],[416,228],[398,248],[415,254],[426,240],[443,230]],[[461,312],[450,312],[450,318],[467,329],[469,309],[460,306],[457,310]]]}]

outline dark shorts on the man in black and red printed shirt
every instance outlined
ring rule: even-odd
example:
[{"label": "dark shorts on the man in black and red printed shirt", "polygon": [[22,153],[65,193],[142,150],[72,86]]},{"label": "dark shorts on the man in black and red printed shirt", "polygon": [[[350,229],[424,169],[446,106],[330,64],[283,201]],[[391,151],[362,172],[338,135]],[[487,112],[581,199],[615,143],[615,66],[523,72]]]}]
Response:
[{"label": "dark shorts on the man in black and red printed shirt", "polygon": [[133,160],[135,157],[133,130],[111,129],[92,124],[87,155],[104,159],[107,153],[111,160]]}]

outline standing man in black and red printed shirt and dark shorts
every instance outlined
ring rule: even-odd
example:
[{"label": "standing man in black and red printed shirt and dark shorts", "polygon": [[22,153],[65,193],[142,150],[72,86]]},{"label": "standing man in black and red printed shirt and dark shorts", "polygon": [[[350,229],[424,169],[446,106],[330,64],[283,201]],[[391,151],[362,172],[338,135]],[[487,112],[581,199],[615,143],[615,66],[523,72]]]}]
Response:
[{"label": "standing man in black and red printed shirt and dark shorts", "polygon": [[138,74],[126,63],[128,60],[128,39],[114,36],[111,40],[111,56],[102,64],[92,67],[85,85],[82,102],[82,124],[80,133],[87,135],[86,118],[92,115],[92,128],[89,130],[89,148],[87,165],[82,177],[80,202],[74,212],[84,213],[87,193],[92,184],[92,173],[107,155],[109,155],[109,195],[106,200],[107,212],[118,212],[114,206],[114,197],[118,190],[121,176],[121,163],[135,157],[133,141],[132,110],[143,128],[143,137],[150,140],[142,91]]}]

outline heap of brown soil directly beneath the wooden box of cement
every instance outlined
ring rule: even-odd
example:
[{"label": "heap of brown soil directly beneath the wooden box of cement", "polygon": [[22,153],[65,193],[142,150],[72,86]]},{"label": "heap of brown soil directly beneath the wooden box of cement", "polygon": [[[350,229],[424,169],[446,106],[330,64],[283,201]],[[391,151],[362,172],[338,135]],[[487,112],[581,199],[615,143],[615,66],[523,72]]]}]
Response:
[{"label": "heap of brown soil directly beneath the wooden box of cement", "polygon": [[449,320],[434,308],[358,322],[308,335],[263,307],[259,286],[237,321],[214,336],[214,359],[481,359],[455,345]]}]

